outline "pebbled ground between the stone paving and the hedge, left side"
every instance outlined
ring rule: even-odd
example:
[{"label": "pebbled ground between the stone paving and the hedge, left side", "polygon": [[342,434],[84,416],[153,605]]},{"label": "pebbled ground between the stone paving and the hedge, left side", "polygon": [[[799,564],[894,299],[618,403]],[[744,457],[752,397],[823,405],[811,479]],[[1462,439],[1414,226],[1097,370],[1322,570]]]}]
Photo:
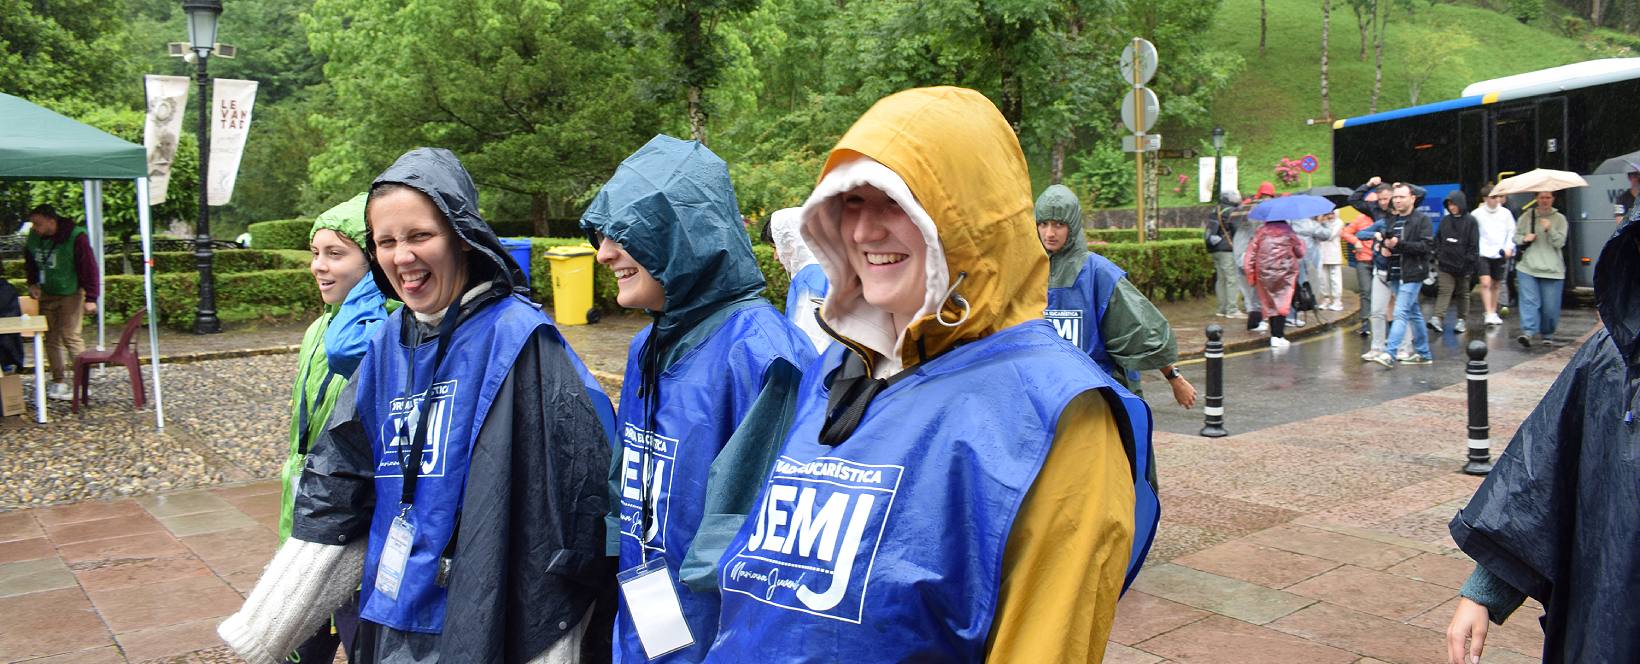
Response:
[{"label": "pebbled ground between the stone paving and the hedge, left side", "polygon": [[[610,397],[631,336],[648,325],[643,315],[613,315],[600,325],[564,328],[576,352],[595,369]],[[215,346],[266,349],[300,341],[305,326],[280,334],[225,333]],[[285,338],[289,336],[289,338]],[[197,351],[180,338],[169,352]],[[131,408],[123,369],[92,377],[92,398],[80,415],[67,402],[48,402],[51,418],[33,423],[33,375],[26,375],[23,418],[0,418],[0,512],[82,500],[267,479],[279,474],[290,430],[294,352],[187,364],[164,364],[166,430],[154,430],[151,367],[143,366],[148,405]]]}]

